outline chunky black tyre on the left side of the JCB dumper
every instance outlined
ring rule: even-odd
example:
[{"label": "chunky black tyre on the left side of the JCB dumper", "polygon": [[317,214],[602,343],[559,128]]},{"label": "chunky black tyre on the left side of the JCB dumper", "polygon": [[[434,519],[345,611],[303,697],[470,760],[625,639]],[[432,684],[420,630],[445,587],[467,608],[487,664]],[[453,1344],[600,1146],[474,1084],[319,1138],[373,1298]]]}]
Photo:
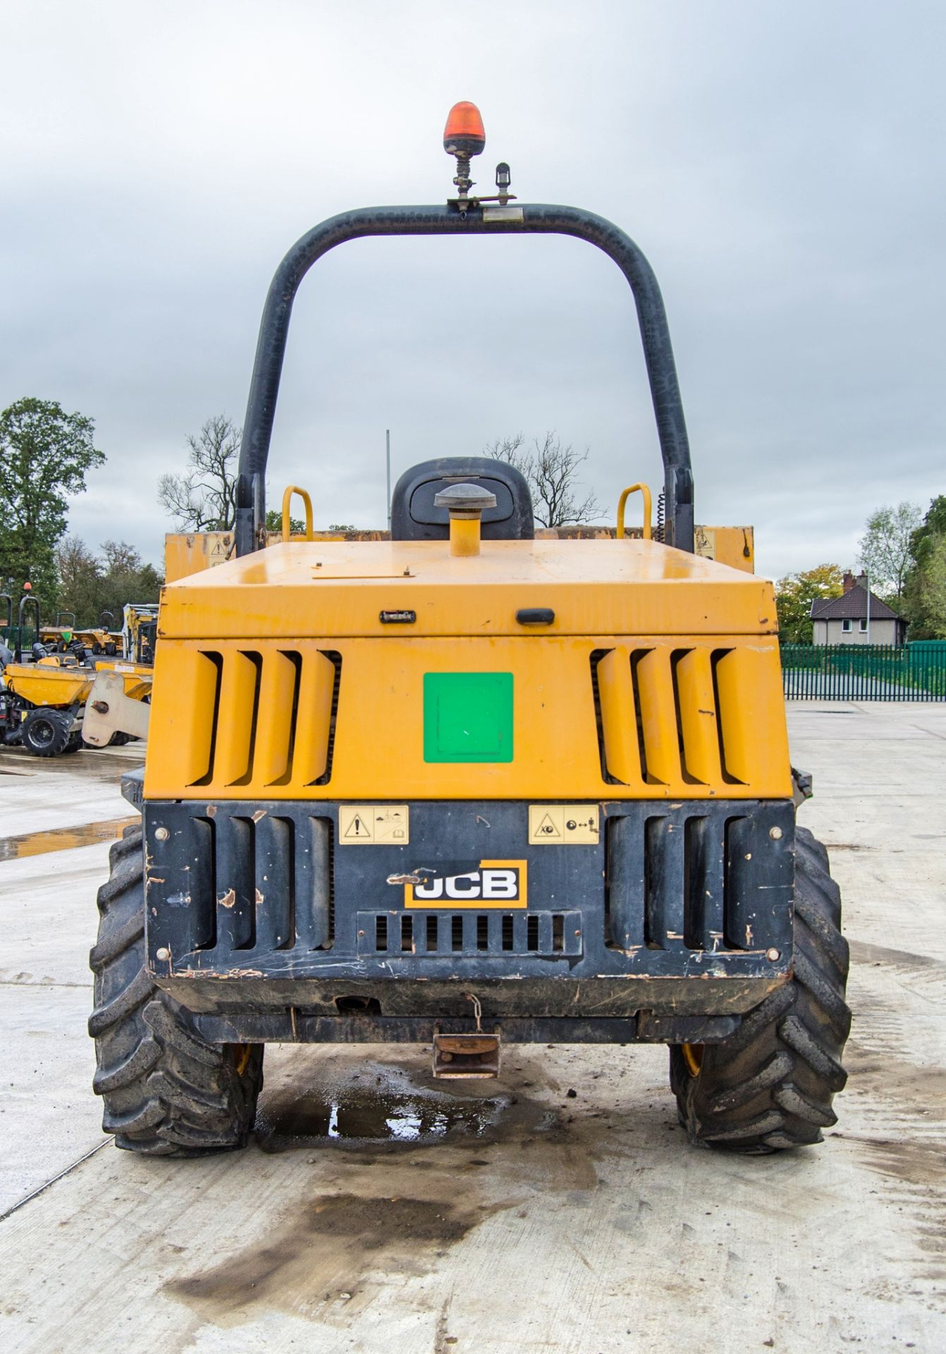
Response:
[{"label": "chunky black tyre on the left side of the JCB dumper", "polygon": [[141,827],[110,853],[99,890],[92,1083],[102,1128],[146,1156],[198,1156],[245,1147],[263,1086],[261,1044],[208,1044],[188,1011],[156,987],[145,964]]}]

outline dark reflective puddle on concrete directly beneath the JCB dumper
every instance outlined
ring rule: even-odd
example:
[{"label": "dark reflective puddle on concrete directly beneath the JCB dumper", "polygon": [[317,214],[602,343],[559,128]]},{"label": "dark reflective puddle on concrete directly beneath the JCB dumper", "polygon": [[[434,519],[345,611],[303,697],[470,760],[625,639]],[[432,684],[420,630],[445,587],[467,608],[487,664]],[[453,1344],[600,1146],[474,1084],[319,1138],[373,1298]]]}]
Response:
[{"label": "dark reflective puddle on concrete directly beneath the JCB dumper", "polygon": [[[499,1093],[457,1094],[417,1085],[405,1071],[361,1063],[360,1071],[264,1097],[256,1140],[264,1152],[345,1144],[425,1145],[448,1139],[485,1140],[517,1104]],[[483,1083],[489,1085],[489,1083]]]}]

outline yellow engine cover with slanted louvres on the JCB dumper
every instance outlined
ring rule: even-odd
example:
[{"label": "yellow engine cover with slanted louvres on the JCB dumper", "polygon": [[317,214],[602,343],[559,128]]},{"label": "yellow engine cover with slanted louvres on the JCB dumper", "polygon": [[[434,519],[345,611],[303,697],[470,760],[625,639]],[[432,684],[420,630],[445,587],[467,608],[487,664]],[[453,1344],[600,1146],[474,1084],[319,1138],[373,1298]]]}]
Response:
[{"label": "yellow engine cover with slanted louvres on the JCB dumper", "polygon": [[[149,799],[792,793],[771,585],[656,542],[290,542],[169,585],[158,636]],[[444,673],[509,676],[508,760],[425,758]]]}]

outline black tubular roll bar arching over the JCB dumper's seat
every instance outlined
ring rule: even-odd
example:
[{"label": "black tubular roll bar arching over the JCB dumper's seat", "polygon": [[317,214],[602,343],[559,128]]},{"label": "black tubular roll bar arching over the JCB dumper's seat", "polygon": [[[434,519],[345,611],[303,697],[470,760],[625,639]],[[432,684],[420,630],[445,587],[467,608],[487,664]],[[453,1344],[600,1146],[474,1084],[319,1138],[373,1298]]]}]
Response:
[{"label": "black tubular roll bar arching over the JCB dumper's seat", "polygon": [[610,221],[581,207],[545,204],[503,209],[364,207],[332,217],[292,245],[276,269],[263,310],[237,477],[237,555],[265,544],[265,473],[286,355],[292,301],[311,265],[329,249],[367,236],[556,234],[587,240],[627,278],[637,307],[644,362],[663,458],[667,544],[693,550],[693,473],[683,405],[667,315],[654,269],[637,245]]}]

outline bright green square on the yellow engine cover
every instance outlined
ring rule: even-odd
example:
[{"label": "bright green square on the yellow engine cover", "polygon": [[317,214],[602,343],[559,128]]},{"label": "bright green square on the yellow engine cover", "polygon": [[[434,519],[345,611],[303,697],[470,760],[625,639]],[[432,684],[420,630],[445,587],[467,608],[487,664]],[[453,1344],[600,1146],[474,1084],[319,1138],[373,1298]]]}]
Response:
[{"label": "bright green square on the yellow engine cover", "polygon": [[512,760],[512,673],[424,674],[424,761]]}]

